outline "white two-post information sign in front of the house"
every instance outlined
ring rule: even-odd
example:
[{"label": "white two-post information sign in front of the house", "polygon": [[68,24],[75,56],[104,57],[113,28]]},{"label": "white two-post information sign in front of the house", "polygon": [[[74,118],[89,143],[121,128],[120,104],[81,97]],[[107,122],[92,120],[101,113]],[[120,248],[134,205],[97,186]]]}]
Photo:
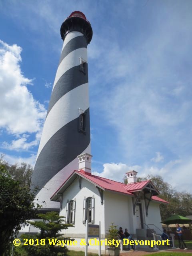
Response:
[{"label": "white two-post information sign in front of the house", "polygon": [[98,238],[99,239],[99,256],[101,256],[101,222],[99,225],[88,224],[88,220],[86,220],[86,233],[85,233],[85,256],[87,256],[88,252],[88,238]]}]

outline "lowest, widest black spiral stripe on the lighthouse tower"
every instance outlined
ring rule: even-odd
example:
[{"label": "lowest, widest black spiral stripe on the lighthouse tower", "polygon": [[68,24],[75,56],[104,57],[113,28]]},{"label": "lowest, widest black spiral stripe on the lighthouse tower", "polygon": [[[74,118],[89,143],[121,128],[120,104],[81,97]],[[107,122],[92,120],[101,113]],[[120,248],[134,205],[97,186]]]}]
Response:
[{"label": "lowest, widest black spiral stripe on the lighthouse tower", "polygon": [[[72,162],[90,144],[89,108],[86,114],[86,134],[78,131],[79,118],[63,126],[48,140],[41,150],[33,172],[32,187],[39,190],[62,168]],[[65,155],[64,155],[65,152]]]}]

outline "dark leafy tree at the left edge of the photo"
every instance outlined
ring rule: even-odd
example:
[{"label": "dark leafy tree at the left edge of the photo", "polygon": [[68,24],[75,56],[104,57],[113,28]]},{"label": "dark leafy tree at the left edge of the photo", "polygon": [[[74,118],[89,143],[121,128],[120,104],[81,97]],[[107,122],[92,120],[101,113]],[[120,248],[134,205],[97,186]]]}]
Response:
[{"label": "dark leafy tree at the left edge of the photo", "polygon": [[14,180],[0,160],[0,252],[10,255],[13,238],[22,225],[35,216],[34,193],[21,181]]}]

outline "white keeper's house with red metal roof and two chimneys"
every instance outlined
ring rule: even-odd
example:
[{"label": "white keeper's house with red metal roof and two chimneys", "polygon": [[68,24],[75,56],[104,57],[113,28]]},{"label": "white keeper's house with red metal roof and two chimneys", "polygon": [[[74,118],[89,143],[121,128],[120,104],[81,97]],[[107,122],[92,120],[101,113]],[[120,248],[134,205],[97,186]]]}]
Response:
[{"label": "white keeper's house with red metal roof and two chimneys", "polygon": [[168,202],[158,197],[152,182],[136,182],[134,170],[126,173],[127,185],[92,175],[91,158],[87,153],[78,156],[79,170],[74,170],[51,197],[60,202],[60,215],[66,216],[66,223],[74,225],[65,235],[78,241],[85,238],[86,220],[101,222],[101,238],[106,237],[111,222],[127,228],[137,239],[150,236],[151,230],[162,234],[159,205]]}]

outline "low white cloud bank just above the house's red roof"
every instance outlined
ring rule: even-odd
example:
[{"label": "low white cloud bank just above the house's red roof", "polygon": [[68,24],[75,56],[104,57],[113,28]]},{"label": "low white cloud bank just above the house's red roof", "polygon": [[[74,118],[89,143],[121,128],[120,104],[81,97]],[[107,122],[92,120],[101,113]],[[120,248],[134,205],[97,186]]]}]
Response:
[{"label": "low white cloud bank just above the house's red roof", "polygon": [[167,162],[161,168],[156,166],[150,166],[148,164],[144,166],[128,166],[122,163],[106,163],[103,164],[103,171],[93,172],[94,175],[123,182],[125,173],[129,170],[135,170],[138,172],[138,177],[146,177],[148,174],[160,175],[165,182],[168,182],[178,191],[188,191],[192,193],[191,180],[192,180],[192,160],[174,160]]}]

